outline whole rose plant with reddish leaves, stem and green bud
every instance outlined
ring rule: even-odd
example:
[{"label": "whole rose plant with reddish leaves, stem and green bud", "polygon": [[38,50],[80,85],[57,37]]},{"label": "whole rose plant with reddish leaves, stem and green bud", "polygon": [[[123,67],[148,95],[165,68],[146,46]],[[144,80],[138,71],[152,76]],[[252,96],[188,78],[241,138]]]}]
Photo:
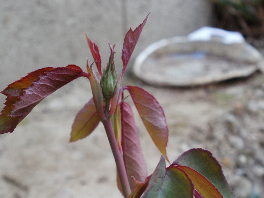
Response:
[{"label": "whole rose plant with reddish leaves, stem and green bud", "polygon": [[[70,141],[88,136],[104,125],[117,166],[117,184],[124,197],[235,197],[226,182],[222,168],[212,153],[190,149],[166,167],[169,130],[162,107],[147,91],[136,86],[121,87],[122,77],[148,16],[134,31],[127,32],[123,49],[123,69],[115,72],[114,46],[110,45],[109,62],[102,71],[98,46],[86,36],[94,62],[86,63],[87,73],[77,65],[46,67],[28,73],[8,85],[0,115],[0,134],[12,133],[18,123],[45,97],[78,77],[90,81],[93,97],[76,115]],[[96,65],[97,71],[94,71]],[[127,90],[152,138],[162,153],[155,171],[147,176],[138,130],[132,109],[125,102]]]}]

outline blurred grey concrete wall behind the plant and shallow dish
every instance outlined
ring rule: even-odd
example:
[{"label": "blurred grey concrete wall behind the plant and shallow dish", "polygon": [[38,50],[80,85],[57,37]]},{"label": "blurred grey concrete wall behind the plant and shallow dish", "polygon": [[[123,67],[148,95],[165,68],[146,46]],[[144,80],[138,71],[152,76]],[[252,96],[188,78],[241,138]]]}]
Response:
[{"label": "blurred grey concrete wall behind the plant and shallow dish", "polygon": [[110,52],[107,42],[117,44],[120,72],[125,32],[149,12],[132,58],[152,42],[209,25],[212,12],[208,0],[0,0],[0,4],[1,90],[42,67],[76,64],[85,69],[86,57],[90,63],[93,59],[84,32],[98,44],[103,66]]}]

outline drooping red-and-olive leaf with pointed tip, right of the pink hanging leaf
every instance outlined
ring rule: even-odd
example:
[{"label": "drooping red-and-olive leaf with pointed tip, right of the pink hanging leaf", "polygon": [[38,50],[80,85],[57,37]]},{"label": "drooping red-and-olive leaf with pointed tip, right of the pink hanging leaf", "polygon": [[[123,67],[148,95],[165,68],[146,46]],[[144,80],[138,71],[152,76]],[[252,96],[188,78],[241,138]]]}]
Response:
[{"label": "drooping red-and-olive leaf with pointed tip, right of the pink hanging leaf", "polygon": [[162,107],[158,101],[144,89],[135,86],[125,86],[123,88],[129,91],[150,137],[162,155],[168,160],[166,146],[168,143],[169,129]]}]

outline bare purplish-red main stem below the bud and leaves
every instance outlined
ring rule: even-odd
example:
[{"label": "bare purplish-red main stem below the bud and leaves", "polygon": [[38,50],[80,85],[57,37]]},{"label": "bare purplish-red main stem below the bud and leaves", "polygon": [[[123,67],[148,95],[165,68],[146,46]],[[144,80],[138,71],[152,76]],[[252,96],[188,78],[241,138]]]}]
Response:
[{"label": "bare purplish-red main stem below the bud and leaves", "polygon": [[107,118],[107,120],[103,120],[102,123],[104,125],[105,130],[106,130],[106,135],[108,137],[108,141],[110,143],[110,146],[111,146],[111,149],[112,149],[112,152],[114,155],[114,160],[116,163],[116,168],[117,168],[117,172],[119,175],[119,179],[120,179],[120,182],[122,185],[124,197],[128,197],[131,193],[130,185],[128,182],[128,177],[127,177],[127,173],[126,173],[126,167],[124,164],[124,160],[123,160],[122,154],[118,148],[115,136],[114,136],[114,131],[112,128],[111,120],[109,118]]}]

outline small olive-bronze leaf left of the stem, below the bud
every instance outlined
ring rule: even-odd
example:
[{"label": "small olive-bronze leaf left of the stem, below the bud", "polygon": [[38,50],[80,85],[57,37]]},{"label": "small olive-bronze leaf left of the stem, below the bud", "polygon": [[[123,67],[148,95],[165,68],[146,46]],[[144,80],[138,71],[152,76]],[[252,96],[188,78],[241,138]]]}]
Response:
[{"label": "small olive-bronze leaf left of the stem, below the bud", "polygon": [[100,122],[93,98],[76,115],[72,125],[70,142],[82,139],[94,131]]}]

